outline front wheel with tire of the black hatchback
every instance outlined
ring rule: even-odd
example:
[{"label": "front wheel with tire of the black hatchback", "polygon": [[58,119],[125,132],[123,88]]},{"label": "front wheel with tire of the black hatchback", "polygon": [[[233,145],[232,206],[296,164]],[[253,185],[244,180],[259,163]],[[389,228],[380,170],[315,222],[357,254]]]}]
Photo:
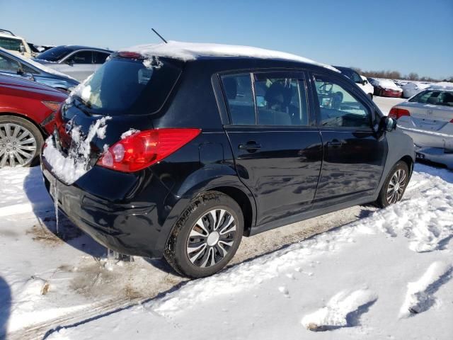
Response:
[{"label": "front wheel with tire of the black hatchback", "polygon": [[384,181],[381,191],[379,191],[379,196],[377,196],[376,204],[380,208],[385,208],[391,204],[399,202],[401,198],[403,198],[408,183],[408,164],[406,164],[406,162],[399,161],[394,165]]}]

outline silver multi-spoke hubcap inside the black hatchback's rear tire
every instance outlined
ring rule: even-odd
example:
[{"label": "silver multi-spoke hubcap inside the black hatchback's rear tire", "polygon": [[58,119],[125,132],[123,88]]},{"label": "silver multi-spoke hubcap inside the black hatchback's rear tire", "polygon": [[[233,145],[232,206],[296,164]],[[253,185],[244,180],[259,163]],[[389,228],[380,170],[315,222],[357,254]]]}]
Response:
[{"label": "silver multi-spoke hubcap inside the black hatchback's rear tire", "polygon": [[234,244],[236,221],[227,210],[213,209],[195,222],[187,242],[187,255],[197,267],[207,268],[222,261]]}]

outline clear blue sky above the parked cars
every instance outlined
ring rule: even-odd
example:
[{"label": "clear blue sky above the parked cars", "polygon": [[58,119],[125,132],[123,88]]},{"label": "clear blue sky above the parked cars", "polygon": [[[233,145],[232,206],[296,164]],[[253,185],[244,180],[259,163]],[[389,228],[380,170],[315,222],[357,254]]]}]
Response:
[{"label": "clear blue sky above the parked cars", "polygon": [[112,49],[168,40],[252,45],[328,64],[453,76],[453,0],[0,0],[0,28]]}]

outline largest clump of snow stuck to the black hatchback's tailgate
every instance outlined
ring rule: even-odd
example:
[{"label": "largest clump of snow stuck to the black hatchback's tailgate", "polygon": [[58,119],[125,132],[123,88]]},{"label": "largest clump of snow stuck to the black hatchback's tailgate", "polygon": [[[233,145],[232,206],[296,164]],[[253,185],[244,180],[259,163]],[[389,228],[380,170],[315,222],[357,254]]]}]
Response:
[{"label": "largest clump of snow stuck to the black hatchback's tailgate", "polygon": [[91,124],[86,137],[81,133],[79,127],[71,130],[71,146],[68,155],[65,156],[55,146],[52,136],[46,140],[42,154],[47,163],[52,166],[53,173],[67,184],[72,184],[81,176],[84,176],[88,169],[90,161],[91,141],[94,137],[103,140],[107,129],[107,120],[111,117],[103,117]]}]

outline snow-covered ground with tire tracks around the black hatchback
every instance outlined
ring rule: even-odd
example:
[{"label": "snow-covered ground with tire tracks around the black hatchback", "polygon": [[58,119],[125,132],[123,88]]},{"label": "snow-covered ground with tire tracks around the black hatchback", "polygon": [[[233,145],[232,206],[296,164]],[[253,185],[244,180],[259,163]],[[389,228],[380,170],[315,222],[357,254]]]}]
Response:
[{"label": "snow-covered ground with tire tracks around the black hatchback", "polygon": [[61,214],[57,233],[38,167],[0,170],[0,193],[0,339],[452,339],[445,169],[417,164],[384,210],[244,238],[226,271],[190,282],[164,261],[108,260]]}]

